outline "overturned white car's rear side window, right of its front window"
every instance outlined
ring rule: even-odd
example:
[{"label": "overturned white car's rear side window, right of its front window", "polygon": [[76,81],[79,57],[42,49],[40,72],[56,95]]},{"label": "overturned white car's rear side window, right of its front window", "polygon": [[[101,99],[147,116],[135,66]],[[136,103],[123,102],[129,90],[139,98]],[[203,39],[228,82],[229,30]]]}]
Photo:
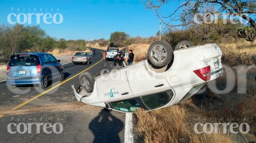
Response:
[{"label": "overturned white car's rear side window, right of its front window", "polygon": [[166,90],[161,93],[154,93],[140,97],[148,109],[155,109],[162,107],[172,100],[172,90]]}]

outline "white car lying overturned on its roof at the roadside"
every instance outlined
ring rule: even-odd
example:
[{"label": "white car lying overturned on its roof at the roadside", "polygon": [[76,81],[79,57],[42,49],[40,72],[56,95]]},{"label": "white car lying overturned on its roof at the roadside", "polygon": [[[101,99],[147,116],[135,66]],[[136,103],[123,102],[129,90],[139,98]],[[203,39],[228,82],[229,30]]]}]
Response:
[{"label": "white car lying overturned on its roof at the roadside", "polygon": [[77,91],[73,85],[72,88],[78,101],[120,112],[134,112],[138,107],[169,107],[221,76],[221,56],[216,44],[194,46],[182,41],[173,49],[167,42],[157,41],[148,49],[148,60],[114,67],[96,78],[82,73],[82,90]]}]

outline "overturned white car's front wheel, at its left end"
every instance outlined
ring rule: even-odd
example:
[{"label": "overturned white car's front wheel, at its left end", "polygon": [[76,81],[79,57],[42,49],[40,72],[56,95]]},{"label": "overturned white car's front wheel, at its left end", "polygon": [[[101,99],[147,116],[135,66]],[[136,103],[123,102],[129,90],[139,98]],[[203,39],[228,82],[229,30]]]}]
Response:
[{"label": "overturned white car's front wheel, at its left end", "polygon": [[87,91],[87,92],[93,91],[95,79],[91,73],[89,73],[89,72],[82,73],[79,76],[79,82],[85,91]]}]

